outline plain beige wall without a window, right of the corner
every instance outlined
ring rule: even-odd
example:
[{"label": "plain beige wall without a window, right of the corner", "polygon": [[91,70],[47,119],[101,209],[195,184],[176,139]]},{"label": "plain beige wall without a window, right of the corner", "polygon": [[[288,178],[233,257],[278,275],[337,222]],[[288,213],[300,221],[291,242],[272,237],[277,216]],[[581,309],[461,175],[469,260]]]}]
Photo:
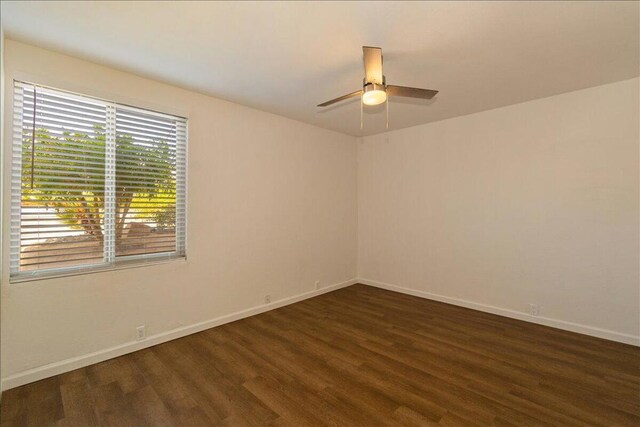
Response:
[{"label": "plain beige wall without a window, right of the corner", "polygon": [[640,345],[638,91],[636,78],[364,138],[359,276]]}]

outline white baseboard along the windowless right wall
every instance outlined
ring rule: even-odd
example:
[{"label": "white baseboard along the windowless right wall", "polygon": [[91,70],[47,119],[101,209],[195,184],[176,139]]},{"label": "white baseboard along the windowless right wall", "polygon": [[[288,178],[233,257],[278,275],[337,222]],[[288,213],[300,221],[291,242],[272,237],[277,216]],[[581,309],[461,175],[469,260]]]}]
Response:
[{"label": "white baseboard along the windowless right wall", "polygon": [[389,291],[400,292],[407,295],[413,295],[420,298],[445,302],[447,304],[457,305],[460,307],[471,308],[478,311],[484,311],[486,313],[497,314],[499,316],[510,317],[512,319],[524,320],[525,322],[537,323],[539,325],[563,329],[565,331],[577,332],[579,334],[590,335],[593,337],[604,338],[624,344],[640,346],[640,336],[624,334],[607,329],[600,329],[593,326],[582,325],[579,323],[567,322],[565,320],[552,319],[549,317],[531,316],[530,314],[521,311],[480,304],[477,302],[467,301],[459,298],[446,297],[444,295],[432,294],[430,292],[418,291],[410,288],[403,288],[401,286],[377,282],[375,280],[369,280],[365,278],[359,278],[358,283],[362,283],[363,285],[375,286],[376,288],[387,289]]}]

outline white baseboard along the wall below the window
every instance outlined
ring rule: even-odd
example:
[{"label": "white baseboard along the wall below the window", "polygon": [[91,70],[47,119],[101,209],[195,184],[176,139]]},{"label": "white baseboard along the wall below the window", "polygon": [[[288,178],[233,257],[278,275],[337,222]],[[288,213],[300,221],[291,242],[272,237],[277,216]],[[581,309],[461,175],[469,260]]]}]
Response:
[{"label": "white baseboard along the wall below the window", "polygon": [[238,311],[226,316],[216,317],[215,319],[205,320],[204,322],[195,323],[189,326],[183,326],[180,328],[172,329],[167,332],[162,332],[156,335],[151,335],[143,341],[131,341],[115,347],[110,347],[104,350],[96,351],[95,353],[84,354],[82,356],[73,357],[70,359],[62,360],[59,362],[50,363],[44,366],[38,366],[37,368],[29,369],[6,378],[2,379],[2,390],[9,390],[14,387],[19,387],[24,384],[28,384],[34,381],[42,380],[54,375],[59,375],[65,372],[73,371],[74,369],[83,368],[94,363],[102,362],[114,357],[122,356],[127,353],[142,350],[143,348],[152,347],[154,345],[162,344],[163,342],[171,341],[176,338],[181,338],[187,335],[195,334],[206,329],[210,329],[216,326],[224,325],[225,323],[234,322],[236,320],[244,319],[245,317],[254,316],[256,314],[264,313],[265,311],[274,310],[276,308],[284,307],[285,305],[293,304],[305,299],[313,298],[318,295],[325,294],[327,292],[335,291],[340,288],[351,286],[358,283],[356,279],[347,280],[346,282],[336,283],[334,285],[326,286],[314,291],[305,292],[299,295],[295,295],[288,298],[283,298],[278,301],[274,301],[270,304],[260,305],[257,307],[248,308],[246,310]]}]

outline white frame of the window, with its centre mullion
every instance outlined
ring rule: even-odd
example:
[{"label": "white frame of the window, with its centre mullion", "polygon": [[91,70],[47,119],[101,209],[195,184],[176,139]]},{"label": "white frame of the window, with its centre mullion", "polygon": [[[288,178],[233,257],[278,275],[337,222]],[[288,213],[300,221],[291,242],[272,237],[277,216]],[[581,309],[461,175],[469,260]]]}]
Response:
[{"label": "white frame of the window, with its centre mullion", "polygon": [[[155,117],[162,117],[165,119],[171,119],[176,121],[176,219],[175,219],[175,239],[176,245],[173,251],[158,252],[150,254],[132,254],[132,255],[119,255],[116,256],[115,247],[115,230],[108,229],[107,214],[114,215],[117,209],[115,204],[116,195],[115,191],[112,194],[111,202],[113,206],[108,207],[108,200],[105,198],[104,205],[104,217],[102,222],[103,233],[105,233],[105,239],[103,242],[103,260],[96,263],[79,264],[73,266],[63,267],[50,267],[43,269],[20,271],[20,259],[21,259],[21,209],[22,209],[22,151],[23,151],[23,117],[24,111],[22,105],[19,108],[17,104],[17,91],[19,87],[33,87],[34,89],[41,89],[45,91],[53,91],[53,93],[61,93],[70,98],[76,98],[79,100],[91,100],[105,106],[106,119],[105,119],[105,134],[106,147],[105,147],[105,171],[104,171],[104,185],[105,191],[108,191],[108,186],[115,186],[116,181],[116,111],[126,110],[131,112],[142,113],[145,115],[151,115]],[[9,166],[9,229],[7,230],[10,236],[9,242],[9,282],[20,283],[34,280],[51,279],[56,277],[75,276],[82,274],[92,274],[105,271],[114,271],[128,268],[144,267],[151,265],[158,265],[172,261],[186,261],[187,259],[187,197],[188,197],[188,143],[189,143],[189,119],[176,114],[159,112],[144,107],[132,106],[116,101],[106,100],[91,95],[84,95],[77,92],[67,91],[64,89],[58,89],[47,85],[37,84],[30,81],[13,79],[11,97],[12,108],[12,122],[11,122],[11,134],[10,139],[10,158],[16,158],[19,156],[20,161],[18,164],[10,162]],[[20,100],[23,99],[23,94],[20,95]],[[180,136],[179,136],[180,135]],[[109,159],[109,153],[112,158]],[[16,168],[18,171],[16,172]],[[107,211],[110,212],[107,212]],[[18,225],[14,225],[15,218],[18,218]],[[113,224],[112,224],[113,225]],[[107,238],[107,232],[110,235]],[[108,240],[110,242],[108,242]],[[108,245],[111,247],[108,248]],[[17,266],[16,266],[17,260]]]}]

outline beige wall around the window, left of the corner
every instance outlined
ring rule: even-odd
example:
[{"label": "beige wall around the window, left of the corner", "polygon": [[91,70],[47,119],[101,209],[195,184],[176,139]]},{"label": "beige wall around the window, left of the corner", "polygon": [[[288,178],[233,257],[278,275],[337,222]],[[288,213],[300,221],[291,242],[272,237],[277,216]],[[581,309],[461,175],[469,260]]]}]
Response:
[{"label": "beige wall around the window, left of the corner", "polygon": [[19,284],[4,269],[5,386],[135,349],[140,324],[153,336],[355,277],[355,138],[10,40],[5,59],[8,107],[19,78],[189,117],[188,260]]}]

